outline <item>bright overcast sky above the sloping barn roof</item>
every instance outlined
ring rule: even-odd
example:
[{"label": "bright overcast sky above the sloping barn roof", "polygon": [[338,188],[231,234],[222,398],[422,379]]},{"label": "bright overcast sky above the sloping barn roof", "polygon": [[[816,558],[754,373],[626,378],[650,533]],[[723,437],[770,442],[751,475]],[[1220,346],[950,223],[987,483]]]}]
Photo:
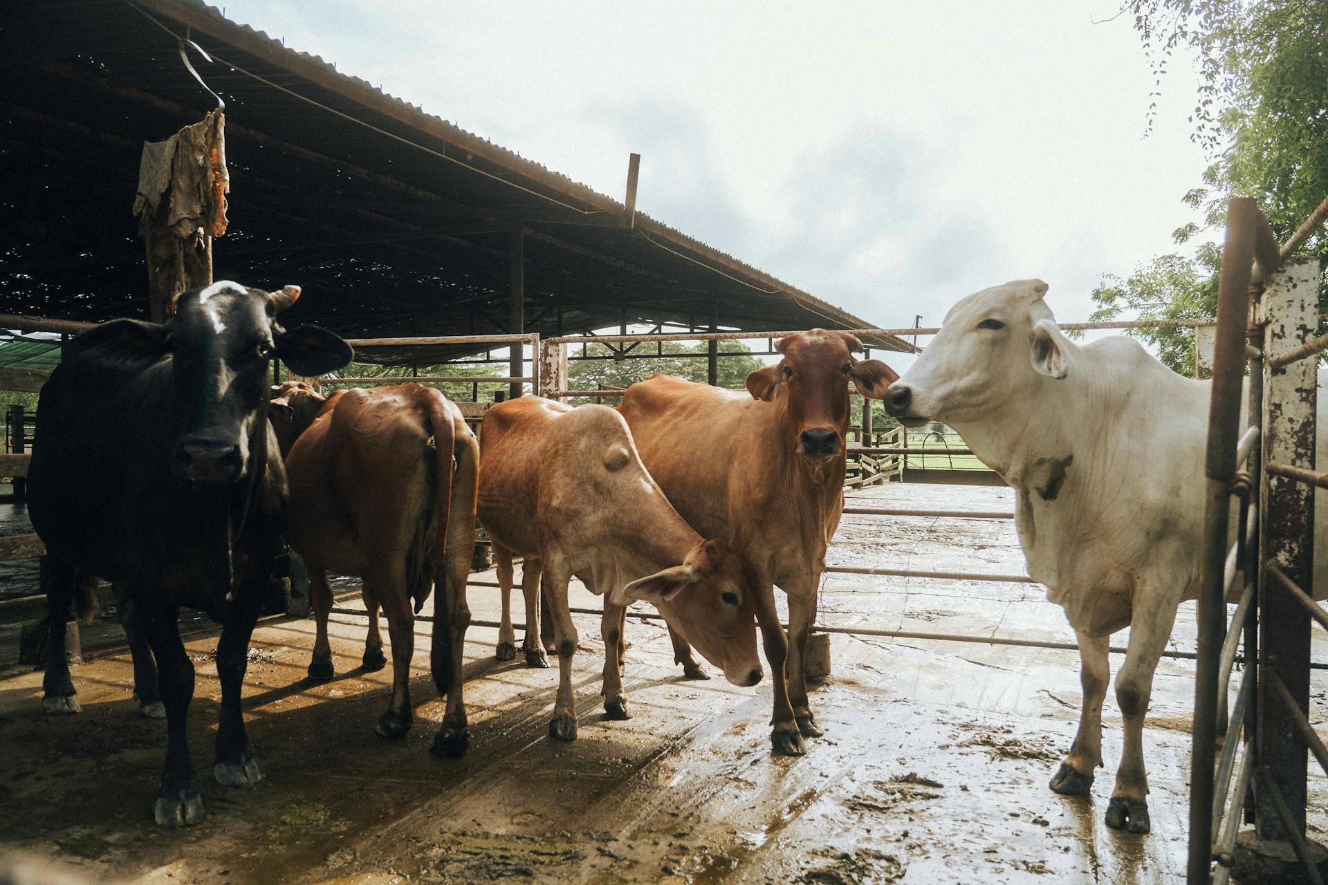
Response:
[{"label": "bright overcast sky above the sloping barn roof", "polygon": [[640,153],[640,210],[880,326],[1033,276],[1086,318],[1197,215],[1193,69],[1145,137],[1112,0],[224,7],[618,199]]}]

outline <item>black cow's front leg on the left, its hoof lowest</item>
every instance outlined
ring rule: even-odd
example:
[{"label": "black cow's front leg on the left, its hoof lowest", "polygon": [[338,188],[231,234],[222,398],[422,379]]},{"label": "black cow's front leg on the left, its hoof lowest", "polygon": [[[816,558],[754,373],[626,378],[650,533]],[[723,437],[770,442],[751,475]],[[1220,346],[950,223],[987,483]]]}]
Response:
[{"label": "black cow's front leg on the left, its hoof lowest", "polygon": [[166,766],[157,791],[154,817],[162,827],[187,827],[203,819],[203,797],[198,792],[186,734],[189,702],[194,697],[194,665],[179,638],[179,612],[162,601],[165,590],[131,586],[129,594],[138,605],[138,625],[157,658],[162,703],[166,706]]}]

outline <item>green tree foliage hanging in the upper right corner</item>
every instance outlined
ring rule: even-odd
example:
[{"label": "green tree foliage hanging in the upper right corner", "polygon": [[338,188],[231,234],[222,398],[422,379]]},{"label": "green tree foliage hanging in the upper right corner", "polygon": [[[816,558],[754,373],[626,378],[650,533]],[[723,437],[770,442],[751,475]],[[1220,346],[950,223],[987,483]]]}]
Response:
[{"label": "green tree foliage hanging in the upper right corner", "polygon": [[[1255,198],[1286,241],[1328,196],[1328,0],[1129,0],[1122,11],[1134,16],[1157,89],[1179,52],[1194,53],[1201,84],[1191,137],[1211,165],[1182,198],[1203,210],[1203,223],[1174,236],[1208,241],[1193,260],[1165,255],[1126,280],[1109,277],[1093,293],[1097,316],[1212,316],[1227,199]],[[1328,236],[1320,230],[1303,253],[1328,261]],[[1328,288],[1319,295],[1323,312]],[[1193,372],[1193,333],[1139,334],[1173,369]]]}]

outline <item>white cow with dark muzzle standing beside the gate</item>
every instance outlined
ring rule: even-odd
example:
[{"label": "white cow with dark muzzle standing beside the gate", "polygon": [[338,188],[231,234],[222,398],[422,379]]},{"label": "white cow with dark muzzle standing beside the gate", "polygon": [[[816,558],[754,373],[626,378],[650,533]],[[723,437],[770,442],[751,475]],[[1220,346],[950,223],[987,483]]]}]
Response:
[{"label": "white cow with dark muzzle standing beside the gate", "polygon": [[[1088,792],[1102,764],[1108,641],[1130,626],[1116,677],[1125,748],[1106,824],[1146,833],[1143,714],[1177,606],[1198,589],[1208,383],[1133,338],[1074,344],[1045,293],[1041,280],[1016,280],[956,304],[884,405],[907,426],[946,422],[1015,488],[1028,573],[1065,609],[1080,649],[1084,707],[1056,792]],[[1328,418],[1324,375],[1319,385]]]}]

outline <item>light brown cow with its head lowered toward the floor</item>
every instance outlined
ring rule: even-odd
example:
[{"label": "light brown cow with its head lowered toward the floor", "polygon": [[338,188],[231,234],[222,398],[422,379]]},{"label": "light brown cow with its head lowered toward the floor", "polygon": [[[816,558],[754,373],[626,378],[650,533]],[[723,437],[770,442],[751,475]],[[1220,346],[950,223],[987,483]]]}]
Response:
[{"label": "light brown cow with its head lowered toward the floor", "polygon": [[[622,415],[540,397],[498,403],[479,431],[479,524],[495,557],[525,557],[540,575],[558,651],[558,701],[548,731],[576,738],[571,662],[576,628],[567,582],[576,576],[604,597],[604,711],[627,719],[622,638],[627,605],[653,602],[664,618],[733,685],[761,681],[752,593],[737,557],[683,521],[636,454]],[[511,568],[507,568],[510,585]],[[523,581],[534,586],[534,579]],[[526,593],[527,649],[538,630]]]}]

